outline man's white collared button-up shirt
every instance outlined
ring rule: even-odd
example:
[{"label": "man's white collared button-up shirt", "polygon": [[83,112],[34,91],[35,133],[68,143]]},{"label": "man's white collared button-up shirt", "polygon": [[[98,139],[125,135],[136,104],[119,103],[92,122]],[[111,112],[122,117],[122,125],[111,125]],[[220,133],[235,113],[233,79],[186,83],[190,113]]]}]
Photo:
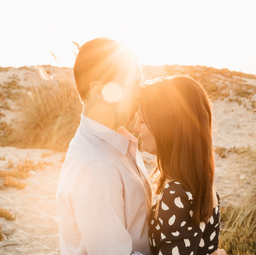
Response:
[{"label": "man's white collared button-up shirt", "polygon": [[137,139],[81,114],[58,182],[62,254],[150,254],[151,197]]}]

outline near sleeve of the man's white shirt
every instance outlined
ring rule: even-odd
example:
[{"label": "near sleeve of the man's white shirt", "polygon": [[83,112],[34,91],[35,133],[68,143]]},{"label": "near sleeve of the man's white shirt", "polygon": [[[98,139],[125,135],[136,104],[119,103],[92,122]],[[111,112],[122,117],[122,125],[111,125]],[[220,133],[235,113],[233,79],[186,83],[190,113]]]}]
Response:
[{"label": "near sleeve of the man's white shirt", "polygon": [[132,253],[122,193],[119,172],[107,163],[88,163],[77,175],[72,190],[73,212],[88,254]]}]

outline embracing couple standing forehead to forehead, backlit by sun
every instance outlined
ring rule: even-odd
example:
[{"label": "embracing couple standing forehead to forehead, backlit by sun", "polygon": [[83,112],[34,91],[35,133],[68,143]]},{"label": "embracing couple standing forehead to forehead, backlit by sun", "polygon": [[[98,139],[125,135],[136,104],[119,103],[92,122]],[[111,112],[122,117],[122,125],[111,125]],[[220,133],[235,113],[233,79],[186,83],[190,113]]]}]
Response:
[{"label": "embracing couple standing forehead to forehead, backlit by sun", "polygon": [[[83,111],[58,182],[61,253],[225,254],[201,85],[182,76],[141,84],[135,55],[107,38],[80,48],[73,73]],[[136,111],[134,131],[157,158],[151,180],[122,127]]]}]

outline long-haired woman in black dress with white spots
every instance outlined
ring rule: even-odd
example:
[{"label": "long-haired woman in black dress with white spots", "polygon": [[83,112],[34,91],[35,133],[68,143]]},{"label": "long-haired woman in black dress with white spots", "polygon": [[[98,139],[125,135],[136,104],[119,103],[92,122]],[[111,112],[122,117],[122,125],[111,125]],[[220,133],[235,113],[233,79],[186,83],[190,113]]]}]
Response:
[{"label": "long-haired woman in black dress with white spots", "polygon": [[161,78],[142,90],[134,130],[157,156],[149,219],[153,254],[209,254],[218,247],[220,203],[213,186],[209,98],[190,77]]}]

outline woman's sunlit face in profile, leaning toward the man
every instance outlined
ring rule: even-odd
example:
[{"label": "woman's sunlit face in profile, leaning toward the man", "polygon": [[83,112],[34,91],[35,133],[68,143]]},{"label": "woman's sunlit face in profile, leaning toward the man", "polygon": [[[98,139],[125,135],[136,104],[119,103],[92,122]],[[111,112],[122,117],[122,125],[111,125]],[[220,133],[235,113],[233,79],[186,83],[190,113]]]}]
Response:
[{"label": "woman's sunlit face in profile, leaning toward the man", "polygon": [[137,113],[139,118],[137,119],[137,122],[134,126],[134,131],[140,133],[141,147],[145,152],[156,155],[156,140],[143,120],[140,107]]}]

